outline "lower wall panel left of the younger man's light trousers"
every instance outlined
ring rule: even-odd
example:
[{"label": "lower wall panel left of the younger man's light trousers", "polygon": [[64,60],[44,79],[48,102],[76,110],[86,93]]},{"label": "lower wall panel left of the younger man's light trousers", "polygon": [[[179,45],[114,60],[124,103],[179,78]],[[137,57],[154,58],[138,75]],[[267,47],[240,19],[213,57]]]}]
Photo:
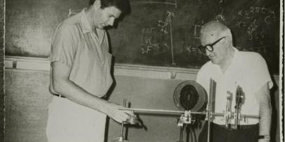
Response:
[{"label": "lower wall panel left of the younger man's light trousers", "polygon": [[6,70],[5,141],[47,141],[49,72]]}]

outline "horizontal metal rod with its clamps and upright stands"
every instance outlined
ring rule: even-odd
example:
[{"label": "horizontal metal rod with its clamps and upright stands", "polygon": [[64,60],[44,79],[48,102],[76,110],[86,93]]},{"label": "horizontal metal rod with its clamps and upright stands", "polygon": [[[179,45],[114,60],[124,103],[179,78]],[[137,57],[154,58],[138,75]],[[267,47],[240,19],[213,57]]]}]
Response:
[{"label": "horizontal metal rod with its clamps and upright stands", "polygon": [[[242,98],[243,98],[243,92],[242,92],[242,88],[240,88],[240,86],[238,86],[237,90],[236,90],[236,107],[235,107],[235,112],[231,111],[231,94],[230,96],[227,97],[227,107],[226,107],[226,111],[224,111],[224,113],[214,113],[213,111],[213,105],[214,105],[214,96],[216,93],[216,82],[213,79],[210,79],[210,94],[209,94],[209,99],[208,99],[208,109],[206,110],[206,112],[193,112],[193,111],[171,111],[171,110],[161,110],[161,109],[131,109],[131,108],[120,108],[120,110],[129,110],[129,111],[134,111],[136,113],[163,113],[163,114],[175,114],[175,115],[181,115],[180,119],[178,120],[177,125],[180,127],[180,141],[177,142],[183,142],[183,129],[184,129],[184,125],[191,125],[191,123],[196,119],[195,117],[192,118],[192,114],[198,114],[198,115],[205,115],[206,118],[205,120],[207,120],[207,142],[210,142],[210,125],[211,125],[211,121],[212,121],[212,116],[224,116],[226,118],[226,127],[228,127],[229,124],[229,120],[231,118],[235,118],[235,128],[238,129],[238,122],[240,120],[240,118],[246,118],[246,117],[250,117],[250,118],[259,118],[259,116],[256,115],[242,115],[240,114],[240,107],[242,104]],[[125,102],[124,102],[125,103]],[[185,108],[184,108],[185,109]],[[135,117],[135,122],[136,122],[136,117]],[[126,122],[129,124],[129,122]],[[124,129],[124,124],[122,124],[122,132]],[[121,136],[119,136],[119,140],[121,141],[126,141],[123,138],[123,134],[121,132]]]}]

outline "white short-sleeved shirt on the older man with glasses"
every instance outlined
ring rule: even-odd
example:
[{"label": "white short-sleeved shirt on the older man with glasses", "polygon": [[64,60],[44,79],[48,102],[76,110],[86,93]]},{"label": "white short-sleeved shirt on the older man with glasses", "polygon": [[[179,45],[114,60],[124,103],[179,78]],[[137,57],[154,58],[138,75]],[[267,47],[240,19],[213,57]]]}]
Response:
[{"label": "white short-sleeved shirt on the older man with glasses", "polygon": [[[215,65],[211,61],[200,68],[196,81],[205,88],[207,94],[210,91],[210,79],[214,79],[217,83],[216,95],[213,99],[213,111],[216,113],[226,111],[228,91],[233,94],[231,111],[235,112],[235,91],[240,86],[244,92],[244,102],[240,113],[258,116],[259,105],[255,96],[258,95],[256,91],[264,84],[268,84],[269,88],[273,86],[264,58],[258,53],[240,52],[238,49],[235,49],[233,61],[225,73],[221,72],[219,65]],[[213,122],[225,125],[225,118],[224,116],[214,116]],[[240,120],[239,123],[240,125],[256,124],[258,118],[246,118],[245,122]],[[231,124],[235,124],[234,119],[231,120]]]}]

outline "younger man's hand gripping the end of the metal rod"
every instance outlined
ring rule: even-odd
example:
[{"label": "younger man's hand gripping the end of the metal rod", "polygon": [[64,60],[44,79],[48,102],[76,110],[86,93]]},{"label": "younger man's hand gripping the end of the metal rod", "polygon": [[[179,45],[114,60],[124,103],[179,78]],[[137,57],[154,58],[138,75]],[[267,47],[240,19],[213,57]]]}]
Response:
[{"label": "younger man's hand gripping the end of the metal rod", "polygon": [[122,123],[127,119],[135,116],[133,111],[119,110],[119,108],[122,108],[122,106],[110,102],[108,105],[108,112],[106,113],[110,118],[117,121],[118,123]]}]

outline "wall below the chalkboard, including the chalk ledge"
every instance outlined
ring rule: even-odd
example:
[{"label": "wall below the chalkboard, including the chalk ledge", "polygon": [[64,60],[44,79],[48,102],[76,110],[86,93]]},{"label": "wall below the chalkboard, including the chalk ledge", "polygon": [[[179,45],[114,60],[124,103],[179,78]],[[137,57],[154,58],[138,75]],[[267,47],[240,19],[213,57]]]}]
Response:
[{"label": "wall below the chalkboard, including the chalk ledge", "polygon": [[[51,95],[47,90],[49,85],[48,67],[42,68],[45,61],[31,63],[22,59],[6,62],[6,142],[45,142],[45,123],[47,118],[47,104]],[[16,68],[13,68],[17,64]],[[11,64],[12,63],[12,64]],[[27,63],[30,63],[27,65]],[[38,64],[37,64],[38,63]],[[22,65],[21,65],[22,64]],[[31,70],[31,66],[43,70]],[[47,66],[47,65],[44,65]],[[21,69],[21,68],[29,68]],[[184,79],[194,80],[197,70],[178,70],[154,67],[140,67],[136,65],[115,66],[115,89],[110,96],[110,101],[123,103],[123,98],[131,102],[133,108],[143,109],[168,109],[177,110],[173,103],[173,91]],[[171,73],[176,72],[176,77],[171,79]],[[278,77],[277,85],[279,83]],[[274,102],[274,134],[273,139],[279,141],[279,90],[272,93]],[[128,138],[130,141],[178,141],[180,128],[177,127],[176,116],[139,115],[147,129],[129,127]],[[108,123],[108,140],[119,136],[120,125],[110,120]],[[195,136],[191,132],[189,141]],[[186,134],[184,134],[186,139]]]}]

